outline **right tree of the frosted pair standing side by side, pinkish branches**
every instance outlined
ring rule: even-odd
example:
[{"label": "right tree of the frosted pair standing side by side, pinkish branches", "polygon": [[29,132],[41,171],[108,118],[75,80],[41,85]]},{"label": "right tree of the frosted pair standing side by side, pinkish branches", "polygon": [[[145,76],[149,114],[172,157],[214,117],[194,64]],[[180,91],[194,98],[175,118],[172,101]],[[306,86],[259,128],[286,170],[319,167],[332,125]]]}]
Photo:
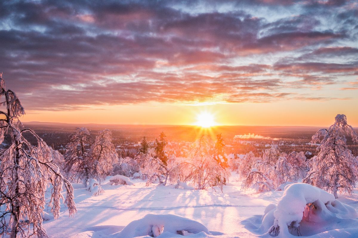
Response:
[{"label": "right tree of the frosted pair standing side by side, pinkish branches", "polygon": [[95,143],[91,147],[93,160],[92,175],[102,181],[110,175],[113,163],[118,161],[115,147],[112,143],[112,132],[108,129],[98,132]]}]

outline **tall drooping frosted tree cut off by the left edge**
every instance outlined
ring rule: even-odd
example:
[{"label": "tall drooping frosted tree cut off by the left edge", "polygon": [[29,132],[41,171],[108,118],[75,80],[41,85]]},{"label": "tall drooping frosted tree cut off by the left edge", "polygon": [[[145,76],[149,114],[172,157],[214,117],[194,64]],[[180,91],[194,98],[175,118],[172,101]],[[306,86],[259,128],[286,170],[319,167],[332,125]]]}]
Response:
[{"label": "tall drooping frosted tree cut off by the left edge", "polygon": [[[9,145],[0,150],[0,236],[47,237],[42,226],[42,213],[46,205],[51,207],[54,218],[59,217],[61,199],[70,216],[76,213],[73,187],[53,162],[54,151],[30,129],[20,129],[19,117],[25,114],[16,94],[6,90],[0,74],[0,98],[5,106],[0,111],[0,142],[9,136]],[[35,137],[32,145],[24,134]],[[45,202],[45,192],[50,190],[50,201]],[[62,196],[67,191],[66,199]]]}]

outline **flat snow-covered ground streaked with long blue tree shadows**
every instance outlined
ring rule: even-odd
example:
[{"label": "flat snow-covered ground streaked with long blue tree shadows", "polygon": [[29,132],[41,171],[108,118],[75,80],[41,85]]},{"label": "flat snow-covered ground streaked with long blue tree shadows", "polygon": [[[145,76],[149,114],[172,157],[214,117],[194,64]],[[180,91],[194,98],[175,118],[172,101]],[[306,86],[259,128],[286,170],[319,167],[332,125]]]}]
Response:
[{"label": "flat snow-covered ground streaked with long blue tree shadows", "polygon": [[[59,219],[44,222],[49,237],[119,237],[118,232],[125,226],[148,213],[189,218],[202,223],[211,233],[201,232],[192,237],[258,237],[262,233],[255,232],[255,222],[258,226],[266,206],[277,204],[283,194],[282,191],[243,192],[235,173],[224,186],[223,193],[220,189],[217,192],[187,190],[171,185],[145,187],[145,181],[131,181],[134,186],[102,183],[105,193],[96,197],[92,197],[82,184],[73,184],[78,212],[69,218],[62,206]],[[358,191],[355,192],[352,196],[340,195],[339,200],[357,209]],[[349,232],[345,235],[349,237]],[[161,237],[168,236],[163,233]]]}]

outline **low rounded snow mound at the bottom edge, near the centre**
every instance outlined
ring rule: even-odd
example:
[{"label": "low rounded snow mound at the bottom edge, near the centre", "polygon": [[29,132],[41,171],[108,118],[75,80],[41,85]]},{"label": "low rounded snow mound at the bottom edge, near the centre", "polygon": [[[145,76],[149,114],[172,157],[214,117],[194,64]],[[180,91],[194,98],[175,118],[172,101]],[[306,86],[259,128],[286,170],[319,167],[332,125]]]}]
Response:
[{"label": "low rounded snow mound at the bottom edge, near the centre", "polygon": [[208,228],[203,224],[191,219],[174,214],[153,214],[132,221],[121,232],[117,238],[133,238],[140,236],[173,237],[173,234],[196,234],[204,232],[210,234]]}]

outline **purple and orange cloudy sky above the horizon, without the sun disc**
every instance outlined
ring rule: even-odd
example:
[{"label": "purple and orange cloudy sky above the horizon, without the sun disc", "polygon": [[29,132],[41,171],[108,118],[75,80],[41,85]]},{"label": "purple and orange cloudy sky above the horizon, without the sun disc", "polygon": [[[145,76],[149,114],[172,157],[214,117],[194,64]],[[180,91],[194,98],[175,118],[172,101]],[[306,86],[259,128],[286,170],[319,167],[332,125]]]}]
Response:
[{"label": "purple and orange cloudy sky above the horizon, without the sun disc", "polygon": [[358,126],[358,2],[0,1],[22,121]]}]

